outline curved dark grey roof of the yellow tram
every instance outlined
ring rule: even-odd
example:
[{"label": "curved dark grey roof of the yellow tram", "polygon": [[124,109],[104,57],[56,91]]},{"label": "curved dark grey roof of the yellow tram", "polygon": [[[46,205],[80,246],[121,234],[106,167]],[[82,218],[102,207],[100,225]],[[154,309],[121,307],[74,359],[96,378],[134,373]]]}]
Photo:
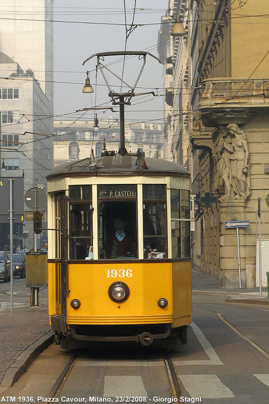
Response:
[{"label": "curved dark grey roof of the yellow tram", "polygon": [[101,168],[91,168],[90,159],[76,160],[55,167],[47,175],[47,179],[57,177],[89,176],[89,175],[172,175],[189,176],[190,173],[179,164],[163,159],[145,157],[148,169],[136,165],[136,156],[104,156],[96,159]]}]

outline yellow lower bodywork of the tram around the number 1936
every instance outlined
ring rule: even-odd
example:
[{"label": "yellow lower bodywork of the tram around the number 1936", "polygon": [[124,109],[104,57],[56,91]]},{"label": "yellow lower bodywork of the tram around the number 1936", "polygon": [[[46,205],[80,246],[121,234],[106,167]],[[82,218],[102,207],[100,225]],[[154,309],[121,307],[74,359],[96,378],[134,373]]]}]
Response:
[{"label": "yellow lower bodywork of the tram around the number 1936", "polygon": [[[107,270],[132,270],[131,277],[108,277]],[[130,271],[129,271],[130,272]],[[48,264],[49,315],[59,313],[56,296],[56,264]],[[124,282],[130,295],[122,303],[114,302],[108,294],[113,282]],[[120,325],[164,324],[179,327],[191,322],[191,263],[85,263],[69,264],[67,296],[67,324]],[[164,309],[159,298],[168,300]],[[70,302],[79,299],[75,310]]]}]

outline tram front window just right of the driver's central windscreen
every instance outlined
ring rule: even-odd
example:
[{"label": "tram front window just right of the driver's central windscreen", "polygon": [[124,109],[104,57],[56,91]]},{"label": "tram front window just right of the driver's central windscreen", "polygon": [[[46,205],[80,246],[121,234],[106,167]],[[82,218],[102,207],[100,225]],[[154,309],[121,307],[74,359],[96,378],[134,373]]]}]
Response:
[{"label": "tram front window just right of the driver's central windscreen", "polygon": [[143,185],[144,259],[167,258],[166,186]]}]

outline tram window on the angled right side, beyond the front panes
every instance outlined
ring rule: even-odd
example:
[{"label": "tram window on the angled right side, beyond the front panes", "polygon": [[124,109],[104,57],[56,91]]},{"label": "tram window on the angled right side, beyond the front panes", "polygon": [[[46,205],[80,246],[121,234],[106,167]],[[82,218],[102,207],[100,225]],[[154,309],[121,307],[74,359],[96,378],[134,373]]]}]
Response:
[{"label": "tram window on the angled right side, beyond the front panes", "polygon": [[172,258],[189,258],[190,247],[190,202],[189,191],[171,189]]}]

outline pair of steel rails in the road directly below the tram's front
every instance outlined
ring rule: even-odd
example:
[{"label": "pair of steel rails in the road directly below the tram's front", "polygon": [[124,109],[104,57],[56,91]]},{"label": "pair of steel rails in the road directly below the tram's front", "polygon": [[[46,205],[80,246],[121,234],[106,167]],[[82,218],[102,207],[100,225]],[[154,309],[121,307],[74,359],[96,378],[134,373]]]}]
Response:
[{"label": "pair of steel rails in the road directly below the tram's front", "polygon": [[[76,353],[72,354],[68,360],[68,363],[66,364],[65,368],[63,369],[61,375],[55,382],[53,388],[51,389],[50,393],[47,395],[47,398],[55,398],[58,396],[60,393],[61,389],[63,388],[64,384],[68,382],[68,376],[75,365],[76,359],[78,355]],[[181,387],[180,387],[180,382],[178,380],[175,366],[173,363],[173,360],[170,356],[170,354],[167,352],[166,354],[163,355],[163,361],[164,361],[164,366],[166,369],[166,374],[170,386],[170,392],[171,392],[171,399],[177,399],[179,402],[179,399],[181,397]],[[152,399],[149,399],[149,401],[152,401]]]}]

